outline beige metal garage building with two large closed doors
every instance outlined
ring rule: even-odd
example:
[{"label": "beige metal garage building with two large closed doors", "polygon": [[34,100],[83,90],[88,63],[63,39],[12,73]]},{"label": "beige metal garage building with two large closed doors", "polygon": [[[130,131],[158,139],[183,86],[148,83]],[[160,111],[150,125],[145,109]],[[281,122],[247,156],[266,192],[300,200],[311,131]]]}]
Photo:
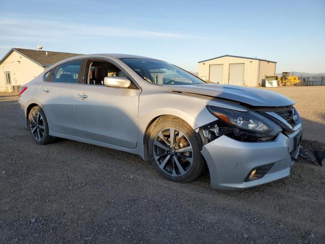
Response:
[{"label": "beige metal garage building with two large closed doors", "polygon": [[275,75],[276,62],[223,55],[199,62],[199,77],[219,84],[261,85],[265,76]]}]

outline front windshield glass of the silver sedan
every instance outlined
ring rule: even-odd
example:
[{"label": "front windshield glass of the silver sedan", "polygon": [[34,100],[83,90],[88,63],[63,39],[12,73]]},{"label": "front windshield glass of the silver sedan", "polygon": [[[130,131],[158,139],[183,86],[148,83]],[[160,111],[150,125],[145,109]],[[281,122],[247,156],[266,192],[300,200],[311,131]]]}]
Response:
[{"label": "front windshield glass of the silver sedan", "polygon": [[192,85],[205,83],[198,77],[163,61],[149,58],[120,58],[144,80],[154,84]]}]

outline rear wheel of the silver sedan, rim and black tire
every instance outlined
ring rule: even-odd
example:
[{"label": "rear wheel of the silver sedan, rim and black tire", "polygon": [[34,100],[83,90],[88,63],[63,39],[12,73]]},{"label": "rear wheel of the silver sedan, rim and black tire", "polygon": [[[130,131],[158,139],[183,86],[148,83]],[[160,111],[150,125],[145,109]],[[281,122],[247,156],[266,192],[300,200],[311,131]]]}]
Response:
[{"label": "rear wheel of the silver sedan, rim and black tire", "polygon": [[[40,123],[38,123],[37,128],[35,128],[36,126],[34,126],[35,125],[35,123],[34,123],[35,116],[34,115],[37,113],[40,113],[42,119],[40,120]],[[30,109],[29,114],[28,114],[28,129],[29,129],[32,139],[37,144],[45,145],[45,144],[52,143],[54,141],[54,137],[49,135],[49,127],[48,127],[47,119],[46,119],[45,113],[43,112],[43,110],[41,109],[40,106],[35,106]],[[39,134],[37,134],[37,130],[40,130]],[[38,137],[39,135],[41,135],[41,136]]]}]

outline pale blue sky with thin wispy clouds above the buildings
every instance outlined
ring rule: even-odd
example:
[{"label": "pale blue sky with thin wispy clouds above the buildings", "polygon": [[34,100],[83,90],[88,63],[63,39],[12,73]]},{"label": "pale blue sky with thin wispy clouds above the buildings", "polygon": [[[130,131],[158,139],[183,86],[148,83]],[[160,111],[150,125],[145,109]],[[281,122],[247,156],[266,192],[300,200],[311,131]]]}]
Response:
[{"label": "pale blue sky with thin wispy clouds above the buildings", "polygon": [[130,53],[190,71],[224,54],[267,58],[277,72],[325,72],[325,1],[7,1],[0,56],[11,47]]}]

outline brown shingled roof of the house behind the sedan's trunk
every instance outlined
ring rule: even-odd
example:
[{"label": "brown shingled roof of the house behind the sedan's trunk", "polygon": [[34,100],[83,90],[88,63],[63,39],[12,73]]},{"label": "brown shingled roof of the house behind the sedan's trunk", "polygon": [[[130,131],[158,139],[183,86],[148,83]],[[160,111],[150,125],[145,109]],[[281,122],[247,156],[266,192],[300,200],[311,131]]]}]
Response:
[{"label": "brown shingled roof of the house behind the sedan's trunk", "polygon": [[[52,52],[52,51],[39,51],[39,50],[32,50],[32,49],[23,49],[23,48],[12,48],[1,60],[0,65],[4,62],[4,60],[13,52],[16,51],[21,55],[27,57],[31,61],[35,62],[36,64],[49,67],[63,59],[68,57],[74,57],[78,55],[78,53],[70,53],[70,52]],[[47,54],[47,55],[46,55]]]}]

